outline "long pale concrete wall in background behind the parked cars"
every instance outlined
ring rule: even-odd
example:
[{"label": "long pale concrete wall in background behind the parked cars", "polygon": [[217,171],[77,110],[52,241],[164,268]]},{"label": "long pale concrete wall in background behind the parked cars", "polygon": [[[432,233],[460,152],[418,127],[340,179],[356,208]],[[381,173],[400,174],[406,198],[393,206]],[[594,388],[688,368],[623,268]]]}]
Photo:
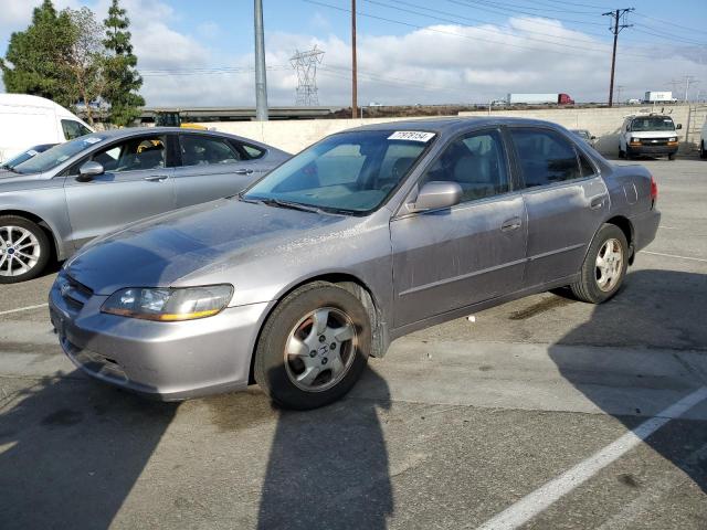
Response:
[{"label": "long pale concrete wall in background behind the parked cars", "polygon": [[[588,129],[597,137],[597,148],[604,155],[616,156],[619,151],[619,129],[624,116],[636,113],[653,112],[651,106],[633,106],[619,108],[547,108],[537,110],[493,110],[492,116],[513,116],[520,118],[545,119],[560,124],[569,129]],[[661,107],[655,112],[661,112]],[[676,124],[683,124],[678,131],[680,152],[689,152],[696,148],[696,139],[687,138],[688,106],[667,105]],[[460,113],[460,116],[488,116],[488,112]],[[320,138],[367,124],[400,121],[410,118],[373,118],[373,119],[309,119],[287,121],[213,121],[204,123],[217,130],[231,132],[254,140],[270,144],[289,152],[297,152]],[[434,119],[434,118],[413,118]],[[685,140],[688,140],[687,142]]]}]

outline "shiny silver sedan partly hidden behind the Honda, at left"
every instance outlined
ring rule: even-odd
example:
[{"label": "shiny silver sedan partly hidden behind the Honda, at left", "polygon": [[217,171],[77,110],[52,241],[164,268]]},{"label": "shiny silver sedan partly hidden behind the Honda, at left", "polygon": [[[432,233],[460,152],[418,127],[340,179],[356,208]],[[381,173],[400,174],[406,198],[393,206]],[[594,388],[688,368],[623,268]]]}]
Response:
[{"label": "shiny silver sedan partly hidden behind the Honda, at left", "polygon": [[0,170],[0,284],[39,275],[93,237],[238,193],[289,158],[214,131],[128,128],[82,136]]}]

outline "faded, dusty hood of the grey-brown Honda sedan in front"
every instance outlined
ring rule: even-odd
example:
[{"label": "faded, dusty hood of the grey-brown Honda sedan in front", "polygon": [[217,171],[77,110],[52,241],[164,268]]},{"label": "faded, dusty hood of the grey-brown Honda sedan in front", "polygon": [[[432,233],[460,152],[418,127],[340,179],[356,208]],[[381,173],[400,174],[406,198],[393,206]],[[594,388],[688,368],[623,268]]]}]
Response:
[{"label": "faded, dusty hood of the grey-brown Honda sedan in front", "polygon": [[232,267],[286,242],[361,218],[303,212],[222,199],[135,223],[99,237],[72,257],[66,272],[98,295],[124,287],[167,287],[198,271]]}]

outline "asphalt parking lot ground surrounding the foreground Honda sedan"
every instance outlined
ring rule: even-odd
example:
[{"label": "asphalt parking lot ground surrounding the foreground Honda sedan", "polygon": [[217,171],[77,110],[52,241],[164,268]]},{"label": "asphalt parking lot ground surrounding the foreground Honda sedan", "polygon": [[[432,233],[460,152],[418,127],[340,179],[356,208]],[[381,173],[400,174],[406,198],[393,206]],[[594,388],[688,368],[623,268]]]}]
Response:
[{"label": "asphalt parking lot ground surrounding the foreground Honda sedan", "polygon": [[416,332],[314,412],[94,383],[51,332],[55,274],[0,287],[0,527],[704,530],[707,162],[640,163],[663,219],[615,299]]}]

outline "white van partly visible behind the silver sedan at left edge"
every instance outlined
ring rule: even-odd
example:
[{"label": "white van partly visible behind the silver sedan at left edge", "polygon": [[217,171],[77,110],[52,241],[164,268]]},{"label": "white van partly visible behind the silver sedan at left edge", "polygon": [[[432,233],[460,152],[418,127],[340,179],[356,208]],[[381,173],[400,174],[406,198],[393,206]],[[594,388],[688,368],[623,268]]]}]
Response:
[{"label": "white van partly visible behind the silver sedan at left edge", "polygon": [[93,132],[61,105],[27,94],[0,94],[0,163],[32,146]]}]

